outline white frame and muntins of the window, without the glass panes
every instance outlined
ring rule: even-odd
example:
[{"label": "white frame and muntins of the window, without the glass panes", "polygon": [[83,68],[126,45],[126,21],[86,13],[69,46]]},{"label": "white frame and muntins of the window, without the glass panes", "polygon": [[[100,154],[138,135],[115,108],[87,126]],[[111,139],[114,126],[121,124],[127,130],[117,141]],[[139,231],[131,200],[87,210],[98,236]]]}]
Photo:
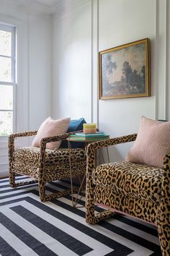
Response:
[{"label": "white frame and muntins of the window, without the glass panes", "polygon": [[[17,70],[17,61],[16,61],[16,56],[17,56],[17,49],[16,49],[16,27],[12,26],[12,25],[4,25],[2,23],[0,23],[0,30],[4,30],[4,31],[8,31],[12,33],[12,56],[5,56],[5,55],[1,55],[1,57],[6,57],[6,58],[10,58],[12,60],[12,82],[4,82],[4,81],[0,81],[0,85],[12,85],[13,86],[13,109],[0,109],[0,111],[12,111],[12,132],[16,132],[17,130],[17,77],[16,77],[16,70]],[[1,136],[1,137],[6,137],[5,136]]]}]

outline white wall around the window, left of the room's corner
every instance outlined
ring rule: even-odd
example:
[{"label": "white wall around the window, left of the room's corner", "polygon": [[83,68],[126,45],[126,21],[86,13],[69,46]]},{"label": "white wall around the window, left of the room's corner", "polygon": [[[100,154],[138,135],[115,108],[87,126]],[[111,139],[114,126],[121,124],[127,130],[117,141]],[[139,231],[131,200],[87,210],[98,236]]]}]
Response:
[{"label": "white wall around the window, left of the room's corner", "polygon": [[[17,26],[17,132],[51,114],[51,17],[46,9],[0,0],[0,22]],[[0,176],[8,174],[7,137],[0,139]]]}]

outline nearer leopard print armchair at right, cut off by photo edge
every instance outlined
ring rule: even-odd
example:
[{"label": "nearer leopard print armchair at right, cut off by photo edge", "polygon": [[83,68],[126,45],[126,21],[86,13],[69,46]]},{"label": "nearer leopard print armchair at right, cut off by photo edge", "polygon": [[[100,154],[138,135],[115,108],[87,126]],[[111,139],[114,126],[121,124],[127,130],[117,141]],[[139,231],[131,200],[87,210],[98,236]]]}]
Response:
[{"label": "nearer leopard print armchair at right, cut off by photo edge", "polygon": [[[96,150],[132,142],[137,134],[93,142],[87,147],[86,222],[95,224],[117,211],[157,226],[163,256],[170,255],[170,153],[164,168],[138,163],[104,163],[95,166]],[[94,205],[102,205],[102,213]]]}]

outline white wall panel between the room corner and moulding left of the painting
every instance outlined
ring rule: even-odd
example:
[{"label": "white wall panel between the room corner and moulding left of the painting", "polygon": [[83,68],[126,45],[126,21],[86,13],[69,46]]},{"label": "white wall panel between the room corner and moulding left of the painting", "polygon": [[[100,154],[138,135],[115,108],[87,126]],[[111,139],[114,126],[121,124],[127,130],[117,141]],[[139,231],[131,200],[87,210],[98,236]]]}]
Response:
[{"label": "white wall panel between the room corner and moulding left of the painting", "polygon": [[53,116],[91,121],[91,1],[81,4],[53,18]]}]

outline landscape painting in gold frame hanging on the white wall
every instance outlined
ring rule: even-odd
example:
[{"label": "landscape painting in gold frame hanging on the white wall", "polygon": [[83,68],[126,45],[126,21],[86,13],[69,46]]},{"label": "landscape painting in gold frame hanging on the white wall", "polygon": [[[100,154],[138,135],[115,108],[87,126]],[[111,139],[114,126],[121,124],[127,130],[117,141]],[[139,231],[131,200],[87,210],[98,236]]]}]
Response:
[{"label": "landscape painting in gold frame hanging on the white wall", "polygon": [[99,52],[99,99],[150,95],[150,40]]}]

